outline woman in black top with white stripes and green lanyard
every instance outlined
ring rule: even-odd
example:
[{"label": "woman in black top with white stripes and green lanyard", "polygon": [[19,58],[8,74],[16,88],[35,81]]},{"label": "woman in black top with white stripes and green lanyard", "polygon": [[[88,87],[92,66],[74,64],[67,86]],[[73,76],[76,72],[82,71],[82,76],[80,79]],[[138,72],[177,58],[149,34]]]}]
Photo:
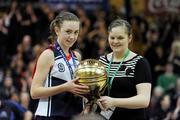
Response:
[{"label": "woman in black top with white stripes and green lanyard", "polygon": [[[128,49],[132,41],[130,24],[114,20],[109,28],[108,41],[112,52],[101,56],[100,61],[108,72],[107,96],[98,102],[110,120],[145,120],[145,108],[151,93],[151,72],[148,61]],[[110,112],[109,112],[110,113]],[[109,117],[109,118],[108,118]]]}]

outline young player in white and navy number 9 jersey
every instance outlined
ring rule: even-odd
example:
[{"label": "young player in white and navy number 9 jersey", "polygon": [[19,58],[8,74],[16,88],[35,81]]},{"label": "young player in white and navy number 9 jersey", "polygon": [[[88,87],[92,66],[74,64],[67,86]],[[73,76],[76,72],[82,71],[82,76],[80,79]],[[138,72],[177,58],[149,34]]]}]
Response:
[{"label": "young player in white and navy number 9 jersey", "polygon": [[82,111],[78,95],[89,92],[87,86],[76,84],[73,72],[79,54],[70,50],[76,42],[80,21],[76,15],[62,12],[51,22],[54,44],[39,57],[31,85],[31,96],[39,99],[37,120],[70,120]]}]

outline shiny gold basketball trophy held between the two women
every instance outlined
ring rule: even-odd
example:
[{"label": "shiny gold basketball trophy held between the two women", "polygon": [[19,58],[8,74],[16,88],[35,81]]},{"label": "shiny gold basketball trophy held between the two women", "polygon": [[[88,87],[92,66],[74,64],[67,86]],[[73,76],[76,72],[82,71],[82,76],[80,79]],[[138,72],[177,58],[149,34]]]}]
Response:
[{"label": "shiny gold basketball trophy held between the two women", "polygon": [[88,103],[85,104],[85,109],[89,107],[88,113],[95,111],[96,101],[106,87],[106,68],[98,60],[86,59],[78,64],[74,75],[79,78],[79,84],[87,85],[90,88],[90,92],[83,95],[88,100]]}]

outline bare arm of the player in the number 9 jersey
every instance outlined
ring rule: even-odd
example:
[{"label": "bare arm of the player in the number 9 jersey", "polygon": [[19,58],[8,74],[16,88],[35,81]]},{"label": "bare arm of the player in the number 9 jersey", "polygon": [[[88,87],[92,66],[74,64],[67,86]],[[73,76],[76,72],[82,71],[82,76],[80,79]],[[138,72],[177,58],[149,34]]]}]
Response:
[{"label": "bare arm of the player in the number 9 jersey", "polygon": [[[37,61],[37,67],[32,80],[31,85],[31,96],[33,99],[48,97],[55,95],[58,92],[63,92],[64,88],[62,86],[55,87],[44,87],[46,76],[54,64],[54,55],[51,50],[45,50],[39,57]],[[60,87],[60,88],[59,88]]]}]

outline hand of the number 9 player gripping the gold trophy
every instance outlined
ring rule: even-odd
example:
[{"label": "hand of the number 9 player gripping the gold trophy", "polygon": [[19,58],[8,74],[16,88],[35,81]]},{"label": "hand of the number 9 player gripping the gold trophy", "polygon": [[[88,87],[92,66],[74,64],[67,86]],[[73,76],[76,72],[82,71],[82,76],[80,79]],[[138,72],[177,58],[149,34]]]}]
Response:
[{"label": "hand of the number 9 player gripping the gold trophy", "polygon": [[90,92],[89,87],[86,85],[78,84],[78,80],[79,78],[76,78],[76,79],[66,82],[65,86],[66,86],[67,91],[78,96],[89,93]]}]

